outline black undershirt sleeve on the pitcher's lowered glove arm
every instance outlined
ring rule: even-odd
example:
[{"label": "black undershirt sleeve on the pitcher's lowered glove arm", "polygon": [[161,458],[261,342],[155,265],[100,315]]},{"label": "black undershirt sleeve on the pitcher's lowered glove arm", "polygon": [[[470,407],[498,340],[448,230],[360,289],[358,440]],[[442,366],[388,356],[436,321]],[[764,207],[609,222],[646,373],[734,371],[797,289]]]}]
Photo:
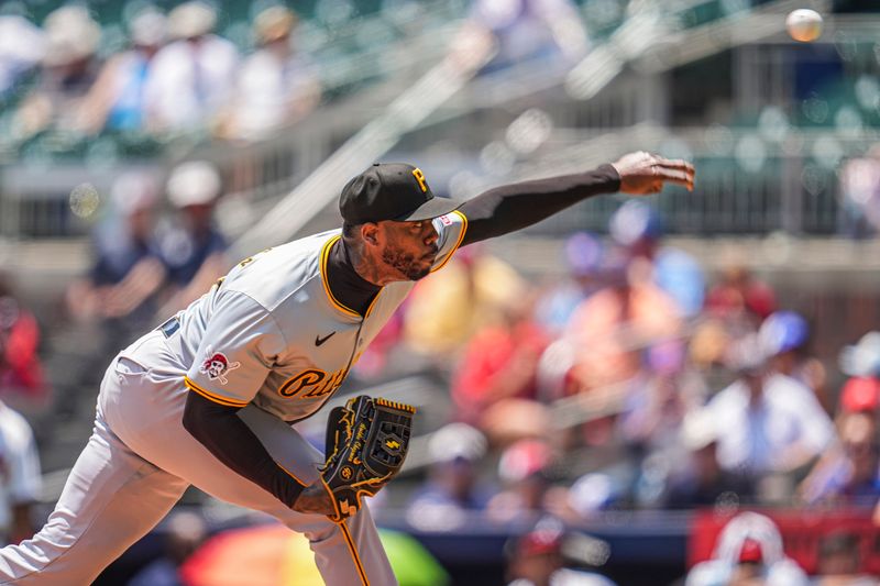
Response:
[{"label": "black undershirt sleeve on the pitcher's lowered glove arm", "polygon": [[254,432],[239,419],[238,410],[189,392],[184,428],[217,460],[288,507],[293,506],[304,486],[278,466]]}]

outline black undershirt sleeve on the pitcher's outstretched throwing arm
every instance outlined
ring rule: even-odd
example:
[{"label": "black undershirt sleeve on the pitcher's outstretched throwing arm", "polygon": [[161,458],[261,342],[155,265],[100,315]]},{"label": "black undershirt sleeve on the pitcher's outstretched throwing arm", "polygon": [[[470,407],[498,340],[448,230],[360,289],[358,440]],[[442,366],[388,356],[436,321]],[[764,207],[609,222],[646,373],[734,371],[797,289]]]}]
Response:
[{"label": "black undershirt sleeve on the pitcher's outstretched throwing arm", "polygon": [[620,176],[612,165],[490,189],[459,208],[468,218],[462,246],[515,232],[588,197],[618,189]]}]

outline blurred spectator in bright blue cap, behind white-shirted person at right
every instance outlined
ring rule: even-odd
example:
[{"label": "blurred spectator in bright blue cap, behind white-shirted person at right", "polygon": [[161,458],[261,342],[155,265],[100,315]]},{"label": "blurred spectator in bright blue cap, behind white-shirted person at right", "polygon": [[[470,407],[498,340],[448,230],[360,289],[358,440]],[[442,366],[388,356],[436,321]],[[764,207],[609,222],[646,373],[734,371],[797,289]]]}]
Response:
[{"label": "blurred spectator in bright blue cap, behind white-shirted person at right", "polygon": [[771,313],[758,331],[759,343],[771,357],[773,369],[806,385],[822,405],[825,412],[834,410],[827,387],[825,366],[810,354],[810,325],[794,311]]}]

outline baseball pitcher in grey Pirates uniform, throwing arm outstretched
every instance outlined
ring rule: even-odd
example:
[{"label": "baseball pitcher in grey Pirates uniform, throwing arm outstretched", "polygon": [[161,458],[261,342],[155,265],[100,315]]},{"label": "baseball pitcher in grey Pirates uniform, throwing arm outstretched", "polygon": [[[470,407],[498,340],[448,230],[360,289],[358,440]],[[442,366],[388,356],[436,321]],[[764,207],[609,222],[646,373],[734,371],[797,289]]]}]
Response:
[{"label": "baseball pitcher in grey Pirates uniform, throwing arm outstretched", "polygon": [[416,167],[371,166],[342,190],[341,230],[245,258],[117,355],[54,512],[33,539],[0,550],[0,584],[89,584],[190,485],[304,533],[329,585],[396,584],[362,497],[403,464],[413,409],[349,401],[329,417],[326,454],[297,422],[460,246],[591,196],[654,194],[667,181],[692,189],[693,179],[683,161],[634,153],[462,203],[435,198]]}]

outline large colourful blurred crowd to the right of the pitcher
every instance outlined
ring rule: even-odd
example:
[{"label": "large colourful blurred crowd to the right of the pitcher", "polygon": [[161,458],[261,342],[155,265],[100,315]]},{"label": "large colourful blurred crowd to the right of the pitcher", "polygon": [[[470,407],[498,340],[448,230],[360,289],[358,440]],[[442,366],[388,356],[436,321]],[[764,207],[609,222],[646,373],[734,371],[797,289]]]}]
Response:
[{"label": "large colourful blurred crowd to the right of the pitcher", "polygon": [[[710,280],[663,245],[641,201],[619,208],[609,234],[571,236],[569,275],[547,285],[461,251],[359,364],[369,375],[400,352],[454,365],[443,461],[422,497],[501,519],[543,507],[579,519],[612,507],[872,507],[878,334],[843,349],[849,378],[835,388],[809,320],[744,265]],[[501,491],[440,486],[466,484],[469,463],[490,453]]]}]

